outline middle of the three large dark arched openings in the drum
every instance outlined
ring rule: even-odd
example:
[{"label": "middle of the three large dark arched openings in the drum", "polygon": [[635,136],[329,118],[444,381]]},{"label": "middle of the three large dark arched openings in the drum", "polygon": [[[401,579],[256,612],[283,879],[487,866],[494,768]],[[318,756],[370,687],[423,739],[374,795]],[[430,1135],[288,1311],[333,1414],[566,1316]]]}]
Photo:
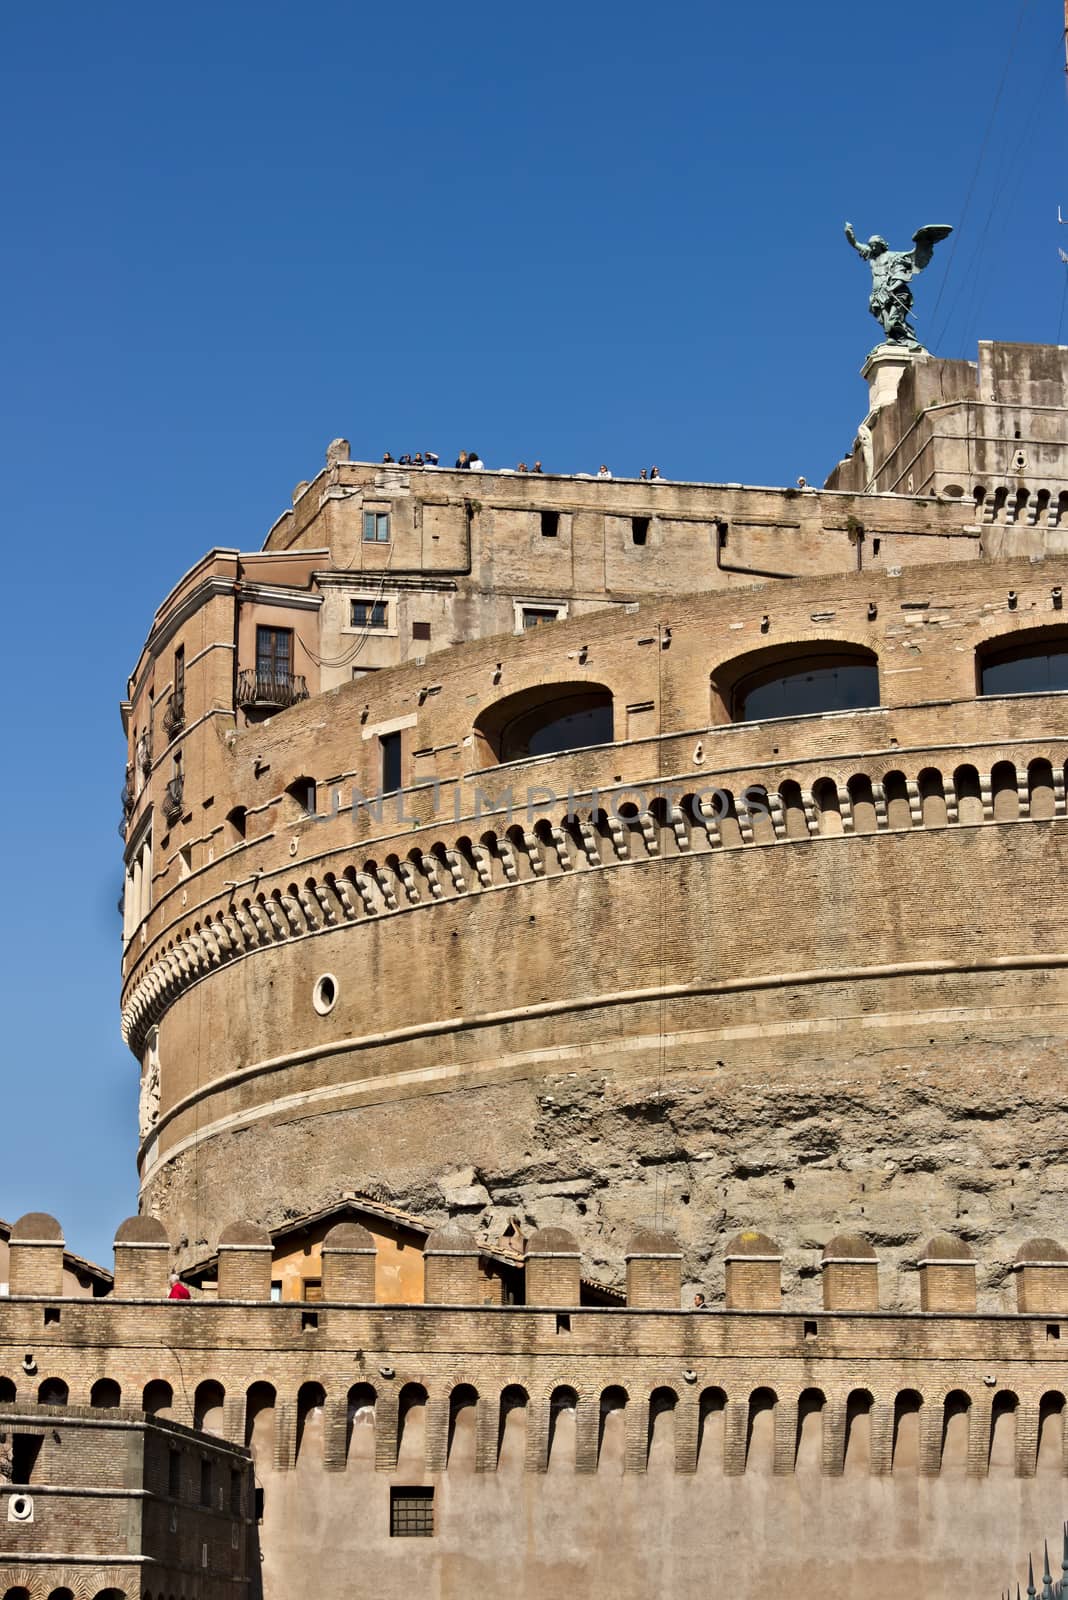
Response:
[{"label": "middle of the three large dark arched openings in the drum", "polygon": [[713,674],[731,722],[817,717],[879,704],[879,667],[860,645],[814,640],[753,651]]}]

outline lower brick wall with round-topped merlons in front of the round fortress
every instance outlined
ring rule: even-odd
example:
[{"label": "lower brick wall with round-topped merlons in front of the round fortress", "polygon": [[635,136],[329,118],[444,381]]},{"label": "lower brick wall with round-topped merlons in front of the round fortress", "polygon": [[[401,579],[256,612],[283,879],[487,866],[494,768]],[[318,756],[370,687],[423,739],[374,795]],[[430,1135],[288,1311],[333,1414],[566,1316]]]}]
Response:
[{"label": "lower brick wall with round-topped merlons in front of the round fortress", "polygon": [[[107,1429],[142,1410],[246,1445],[265,1595],[294,1592],[309,1571],[328,1589],[358,1563],[385,1597],[472,1584],[532,1600],[580,1581],[598,1600],[641,1600],[657,1570],[695,1597],[715,1558],[739,1592],[759,1560],[801,1600],[844,1600],[878,1555],[887,1592],[923,1582],[948,1597],[962,1549],[996,1592],[1006,1552],[1063,1504],[1068,1251],[1054,1240],[1018,1253],[1022,1304],[1039,1293],[1044,1307],[1014,1315],[961,1309],[958,1280],[967,1299],[975,1261],[951,1235],[919,1264],[921,1277],[940,1274],[924,1280],[924,1314],[851,1309],[881,1275],[870,1243],[841,1234],[822,1251],[823,1304],[769,1306],[780,1251],[755,1230],[731,1256],[775,1267],[737,1280],[732,1310],[679,1309],[681,1259],[664,1230],[632,1240],[635,1304],[579,1306],[577,1274],[555,1270],[579,1256],[563,1229],[528,1240],[528,1285],[534,1270],[548,1302],[307,1306],[267,1298],[253,1224],[225,1230],[217,1294],[161,1299],[163,1240],[144,1221],[117,1234],[112,1296],[0,1302],[0,1422]],[[325,1248],[365,1258],[369,1237],[342,1224]],[[50,1245],[62,1251],[54,1222]],[[150,1285],[136,1246],[152,1248]],[[29,1245],[14,1248],[18,1270]],[[237,1272],[227,1251],[248,1258]],[[427,1251],[451,1262],[443,1293],[480,1293],[467,1229],[432,1234]],[[235,1288],[249,1298],[224,1298]],[[640,1309],[651,1294],[660,1304]],[[61,1477],[50,1456],[24,1488]],[[390,1534],[390,1496],[412,1486],[433,1498],[425,1546]],[[166,1515],[163,1482],[150,1507],[157,1498]],[[85,1515],[83,1547],[99,1547],[107,1504]],[[147,1571],[142,1582],[155,1595]]]}]

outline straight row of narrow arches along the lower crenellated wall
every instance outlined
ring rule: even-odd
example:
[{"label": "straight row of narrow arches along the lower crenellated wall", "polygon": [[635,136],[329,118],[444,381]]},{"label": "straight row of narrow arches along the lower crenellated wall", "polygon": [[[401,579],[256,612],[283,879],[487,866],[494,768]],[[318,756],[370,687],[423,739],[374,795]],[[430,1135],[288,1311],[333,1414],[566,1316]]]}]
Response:
[{"label": "straight row of narrow arches along the lower crenellated wall", "polygon": [[[69,1394],[62,1379],[38,1386],[42,1403],[66,1405],[61,1394]],[[122,1402],[112,1379],[99,1379],[91,1394]],[[0,1379],[5,1398],[14,1398],[10,1379]],[[163,1379],[130,1400],[150,1414],[174,1416],[174,1392]],[[235,1414],[224,1386],[205,1379],[193,1392],[192,1418],[176,1419],[217,1437],[230,1427],[253,1450],[261,1474],[269,1466],[315,1469],[328,1456],[336,1466],[411,1470],[675,1470],[686,1467],[687,1453],[691,1466],[711,1472],[1065,1474],[1065,1416],[1060,1390],[1020,1400],[1015,1390],[998,1389],[977,1400],[964,1389],[924,1397],[916,1389],[828,1395],[820,1387],[790,1394],[758,1386],[739,1397],[718,1386],[695,1392],[609,1384],[580,1395],[569,1384],[539,1394],[518,1382],[492,1392],[460,1382],[432,1398],[422,1382],[400,1390],[357,1382],[333,1395],[321,1382],[305,1382],[296,1397],[280,1398],[265,1381],[238,1392]]]}]

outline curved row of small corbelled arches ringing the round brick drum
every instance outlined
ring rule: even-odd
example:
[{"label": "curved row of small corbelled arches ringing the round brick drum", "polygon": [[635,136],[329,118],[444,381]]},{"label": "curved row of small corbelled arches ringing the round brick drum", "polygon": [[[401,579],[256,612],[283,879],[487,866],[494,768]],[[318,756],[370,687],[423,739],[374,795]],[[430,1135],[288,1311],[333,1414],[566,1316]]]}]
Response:
[{"label": "curved row of small corbelled arches ringing the round brick drum", "polygon": [[[822,773],[775,786],[734,778],[702,789],[657,784],[619,794],[611,808],[500,822],[404,853],[387,851],[262,888],[176,931],[150,952],[123,1008],[123,1032],[141,1051],[147,1029],[198,976],[249,950],[390,912],[622,861],[983,822],[1050,821],[1065,814],[1062,755],[1026,765],[1004,758],[980,771],[923,766]],[[547,805],[552,797],[547,797]],[[500,797],[497,797],[500,802]],[[496,803],[496,802],[494,802]],[[507,802],[500,802],[504,806]]]}]

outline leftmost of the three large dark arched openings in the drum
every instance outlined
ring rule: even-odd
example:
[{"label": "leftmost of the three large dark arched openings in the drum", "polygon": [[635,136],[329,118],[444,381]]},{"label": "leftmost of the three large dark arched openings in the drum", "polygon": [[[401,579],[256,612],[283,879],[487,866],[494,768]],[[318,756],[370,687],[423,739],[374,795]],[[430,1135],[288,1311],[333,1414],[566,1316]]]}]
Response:
[{"label": "leftmost of the three large dark arched openings in the drum", "polygon": [[475,722],[484,762],[521,762],[611,744],[612,693],[603,683],[544,683],[488,706]]}]

